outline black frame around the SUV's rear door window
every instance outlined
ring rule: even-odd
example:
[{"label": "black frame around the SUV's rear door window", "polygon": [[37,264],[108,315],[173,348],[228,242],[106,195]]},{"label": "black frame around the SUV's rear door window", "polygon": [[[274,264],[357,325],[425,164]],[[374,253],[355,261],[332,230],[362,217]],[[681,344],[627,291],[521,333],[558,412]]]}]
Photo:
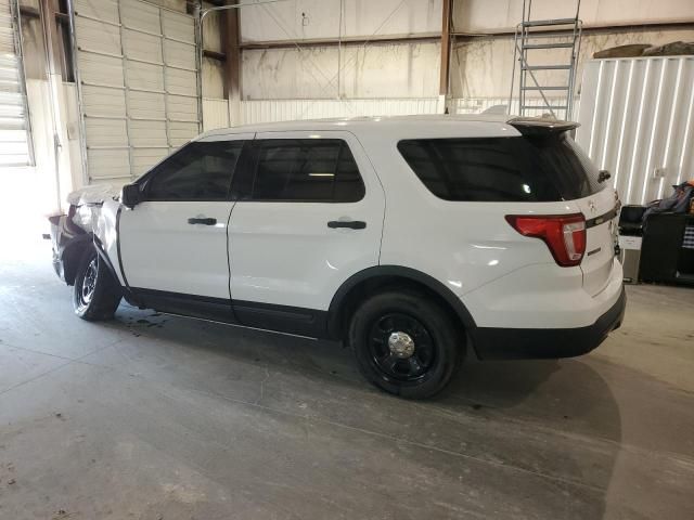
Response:
[{"label": "black frame around the SUV's rear door window", "polygon": [[[344,147],[349,151],[349,155],[351,156],[351,160],[357,169],[357,174],[359,176],[359,182],[361,184],[361,196],[354,200],[336,200],[333,198],[325,199],[301,199],[301,198],[254,198],[253,191],[255,187],[257,174],[258,174],[258,164],[260,161],[260,151],[262,150],[262,144],[270,141],[307,141],[307,142],[320,142],[320,141],[339,141],[340,148],[338,151],[336,164],[339,164],[340,154]],[[244,147],[245,154],[242,154],[239,162],[236,162],[236,168],[234,171],[234,177],[231,182],[231,196],[232,200],[244,202],[244,203],[293,203],[293,204],[357,204],[362,202],[367,197],[367,183],[364,182],[364,176],[359,168],[359,164],[357,162],[357,157],[355,153],[347,142],[346,139],[342,136],[324,136],[324,138],[305,138],[305,136],[256,136],[252,142],[248,143],[247,147]],[[240,167],[241,166],[241,167]],[[245,176],[245,179],[239,180],[237,176]],[[337,182],[337,167],[335,168],[335,178],[333,182]],[[236,190],[239,183],[246,183],[244,186],[242,184],[240,190]]]}]

